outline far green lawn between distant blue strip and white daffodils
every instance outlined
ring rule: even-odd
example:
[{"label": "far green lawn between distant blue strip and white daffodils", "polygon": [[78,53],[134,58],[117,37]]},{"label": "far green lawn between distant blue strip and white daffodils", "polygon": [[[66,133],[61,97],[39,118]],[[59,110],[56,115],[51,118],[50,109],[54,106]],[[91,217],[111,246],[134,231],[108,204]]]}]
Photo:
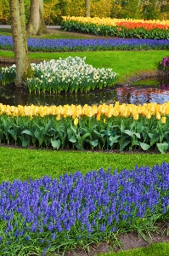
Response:
[{"label": "far green lawn between distant blue strip and white daffodils", "polygon": [[[49,61],[51,59],[66,58],[68,56],[86,56],[86,63],[97,68],[111,67],[119,74],[117,83],[138,75],[142,72],[156,71],[159,62],[168,55],[168,50],[146,50],[146,51],[93,51],[93,52],[70,52],[70,53],[29,53],[31,61]],[[14,58],[14,52],[0,50],[1,58]]]}]

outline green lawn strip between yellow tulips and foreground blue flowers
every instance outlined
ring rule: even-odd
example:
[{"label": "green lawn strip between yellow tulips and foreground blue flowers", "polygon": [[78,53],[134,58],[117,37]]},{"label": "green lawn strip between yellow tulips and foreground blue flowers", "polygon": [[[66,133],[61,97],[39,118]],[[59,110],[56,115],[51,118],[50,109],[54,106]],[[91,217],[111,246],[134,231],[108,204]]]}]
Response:
[{"label": "green lawn strip between yellow tulips and foreground blue flowers", "polygon": [[59,177],[65,172],[82,173],[110,167],[120,172],[134,166],[154,166],[169,162],[169,154],[112,154],[109,152],[54,151],[0,147],[0,182],[16,178]]}]

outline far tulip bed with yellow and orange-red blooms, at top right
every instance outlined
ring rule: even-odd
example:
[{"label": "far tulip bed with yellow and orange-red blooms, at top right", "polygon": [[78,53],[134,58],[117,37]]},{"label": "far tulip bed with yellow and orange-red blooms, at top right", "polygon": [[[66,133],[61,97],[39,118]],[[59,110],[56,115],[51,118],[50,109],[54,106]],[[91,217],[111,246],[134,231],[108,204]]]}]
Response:
[{"label": "far tulip bed with yellow and orange-red blooms, at top right", "polygon": [[63,17],[64,31],[77,31],[118,38],[168,39],[168,20],[125,20],[98,17]]}]

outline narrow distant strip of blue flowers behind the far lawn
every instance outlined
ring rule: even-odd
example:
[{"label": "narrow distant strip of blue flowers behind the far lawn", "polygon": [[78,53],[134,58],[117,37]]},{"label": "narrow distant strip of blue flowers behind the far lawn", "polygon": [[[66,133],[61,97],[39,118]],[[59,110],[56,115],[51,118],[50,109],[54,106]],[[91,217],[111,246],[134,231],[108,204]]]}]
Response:
[{"label": "narrow distant strip of blue flowers behind the far lawn", "polygon": [[[14,49],[13,38],[0,36],[0,49]],[[169,49],[169,40],[158,39],[37,39],[28,38],[31,51],[63,52],[110,49]]]}]

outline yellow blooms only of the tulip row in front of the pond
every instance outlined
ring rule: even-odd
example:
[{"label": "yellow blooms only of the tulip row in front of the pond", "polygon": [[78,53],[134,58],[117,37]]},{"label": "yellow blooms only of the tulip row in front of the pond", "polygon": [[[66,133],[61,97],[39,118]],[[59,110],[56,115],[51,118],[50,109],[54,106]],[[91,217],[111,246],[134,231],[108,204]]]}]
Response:
[{"label": "yellow blooms only of the tulip row in front of the pond", "polygon": [[0,103],[0,114],[7,114],[8,116],[47,116],[54,115],[56,119],[72,117],[76,119],[79,117],[87,116],[89,118],[95,116],[97,120],[100,120],[100,116],[104,115],[104,118],[123,117],[128,118],[130,116],[137,120],[140,116],[150,119],[151,116],[156,116],[156,119],[161,119],[162,123],[166,123],[166,115],[169,114],[169,102],[164,104],[144,103],[144,105],[134,104],[120,104],[115,102],[115,105],[101,104],[99,106],[81,105],[64,105],[64,106],[21,106],[18,107],[3,105]]}]

